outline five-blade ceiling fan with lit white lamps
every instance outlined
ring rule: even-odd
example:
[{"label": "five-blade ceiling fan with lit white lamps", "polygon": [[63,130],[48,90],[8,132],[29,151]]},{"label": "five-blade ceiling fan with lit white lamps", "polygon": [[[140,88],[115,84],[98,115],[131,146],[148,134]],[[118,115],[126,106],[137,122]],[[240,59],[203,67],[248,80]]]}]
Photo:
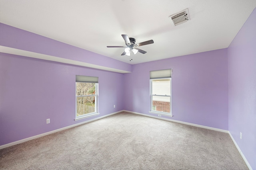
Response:
[{"label": "five-blade ceiling fan with lit white lamps", "polygon": [[126,46],[107,46],[108,48],[112,48],[112,47],[120,47],[120,48],[125,48],[124,49],[124,53],[122,53],[121,55],[131,55],[131,51],[136,54],[137,52],[145,54],[147,53],[146,51],[142,50],[142,49],[138,49],[136,47],[142,46],[142,45],[148,45],[148,44],[152,44],[154,43],[154,41],[148,40],[148,41],[144,41],[142,43],[135,43],[136,39],[135,38],[129,38],[128,35],[124,35],[122,34],[122,37],[125,41]]}]

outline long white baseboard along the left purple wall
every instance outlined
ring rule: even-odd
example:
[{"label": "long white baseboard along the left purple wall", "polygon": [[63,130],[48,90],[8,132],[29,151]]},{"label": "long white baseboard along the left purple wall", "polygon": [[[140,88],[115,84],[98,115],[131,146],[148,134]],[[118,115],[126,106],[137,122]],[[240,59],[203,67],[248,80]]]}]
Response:
[{"label": "long white baseboard along the left purple wall", "polygon": [[108,117],[108,116],[110,116],[110,115],[114,115],[114,114],[116,114],[116,113],[120,113],[120,112],[122,112],[122,111],[124,111],[124,110],[117,111],[117,112],[114,112],[114,113],[110,113],[110,114],[108,114],[108,115],[104,115],[104,116],[101,116],[101,117],[97,117],[97,118],[95,118],[95,119],[90,119],[90,120],[87,120],[87,121],[83,121],[83,122],[80,122],[80,123],[76,123],[76,124],[74,124],[74,125],[62,127],[62,128],[60,128],[60,129],[56,129],[56,130],[53,130],[53,131],[50,131],[50,132],[42,133],[42,134],[40,134],[40,135],[28,137],[28,138],[26,138],[26,139],[21,139],[21,140],[19,140],[19,141],[15,141],[15,142],[12,142],[12,143],[7,143],[7,144],[5,144],[5,145],[1,145],[1,146],[0,146],[0,149],[4,149],[4,148],[7,148],[7,147],[10,147],[10,146],[13,146],[13,145],[17,145],[17,144],[20,144],[20,143],[24,143],[24,142],[30,141],[30,140],[32,140],[32,139],[36,139],[36,138],[39,138],[39,137],[43,137],[43,136],[46,136],[46,135],[50,135],[50,134],[52,134],[52,133],[56,133],[56,132],[59,132],[59,131],[63,131],[63,130],[65,130],[65,129],[69,129],[69,128],[71,128],[71,127],[75,127],[75,126],[78,126],[78,125],[82,125],[82,124],[88,123],[88,122],[90,122],[90,121],[95,121],[95,120],[98,120],[98,119],[102,119],[102,118],[104,118],[104,117]]}]

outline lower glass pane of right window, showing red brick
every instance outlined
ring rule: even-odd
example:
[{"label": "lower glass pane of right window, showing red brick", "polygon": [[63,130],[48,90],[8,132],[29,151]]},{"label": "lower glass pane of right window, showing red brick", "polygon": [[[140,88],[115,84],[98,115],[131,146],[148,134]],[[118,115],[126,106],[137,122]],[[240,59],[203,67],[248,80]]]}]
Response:
[{"label": "lower glass pane of right window, showing red brick", "polygon": [[[152,106],[155,106],[156,111],[170,113],[170,97],[152,96]],[[154,108],[152,108],[154,110]]]}]

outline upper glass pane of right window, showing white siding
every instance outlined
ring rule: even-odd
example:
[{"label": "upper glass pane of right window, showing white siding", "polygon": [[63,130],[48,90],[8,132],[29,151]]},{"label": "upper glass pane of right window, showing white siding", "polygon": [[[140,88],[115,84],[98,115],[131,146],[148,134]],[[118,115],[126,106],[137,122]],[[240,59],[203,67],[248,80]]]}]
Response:
[{"label": "upper glass pane of right window, showing white siding", "polygon": [[156,95],[171,95],[170,79],[152,80],[152,94]]}]

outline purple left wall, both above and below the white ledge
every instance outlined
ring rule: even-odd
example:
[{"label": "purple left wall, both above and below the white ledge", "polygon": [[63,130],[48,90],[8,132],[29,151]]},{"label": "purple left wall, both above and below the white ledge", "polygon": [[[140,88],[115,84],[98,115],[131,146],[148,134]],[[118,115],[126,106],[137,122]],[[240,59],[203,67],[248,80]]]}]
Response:
[{"label": "purple left wall, both above and below the white ledge", "polygon": [[[0,45],[132,69],[130,64],[2,23]],[[74,121],[77,74],[99,77],[100,115],[96,117],[123,109],[123,74],[0,53],[0,145],[96,118]],[[47,118],[51,123],[46,125]]]}]

